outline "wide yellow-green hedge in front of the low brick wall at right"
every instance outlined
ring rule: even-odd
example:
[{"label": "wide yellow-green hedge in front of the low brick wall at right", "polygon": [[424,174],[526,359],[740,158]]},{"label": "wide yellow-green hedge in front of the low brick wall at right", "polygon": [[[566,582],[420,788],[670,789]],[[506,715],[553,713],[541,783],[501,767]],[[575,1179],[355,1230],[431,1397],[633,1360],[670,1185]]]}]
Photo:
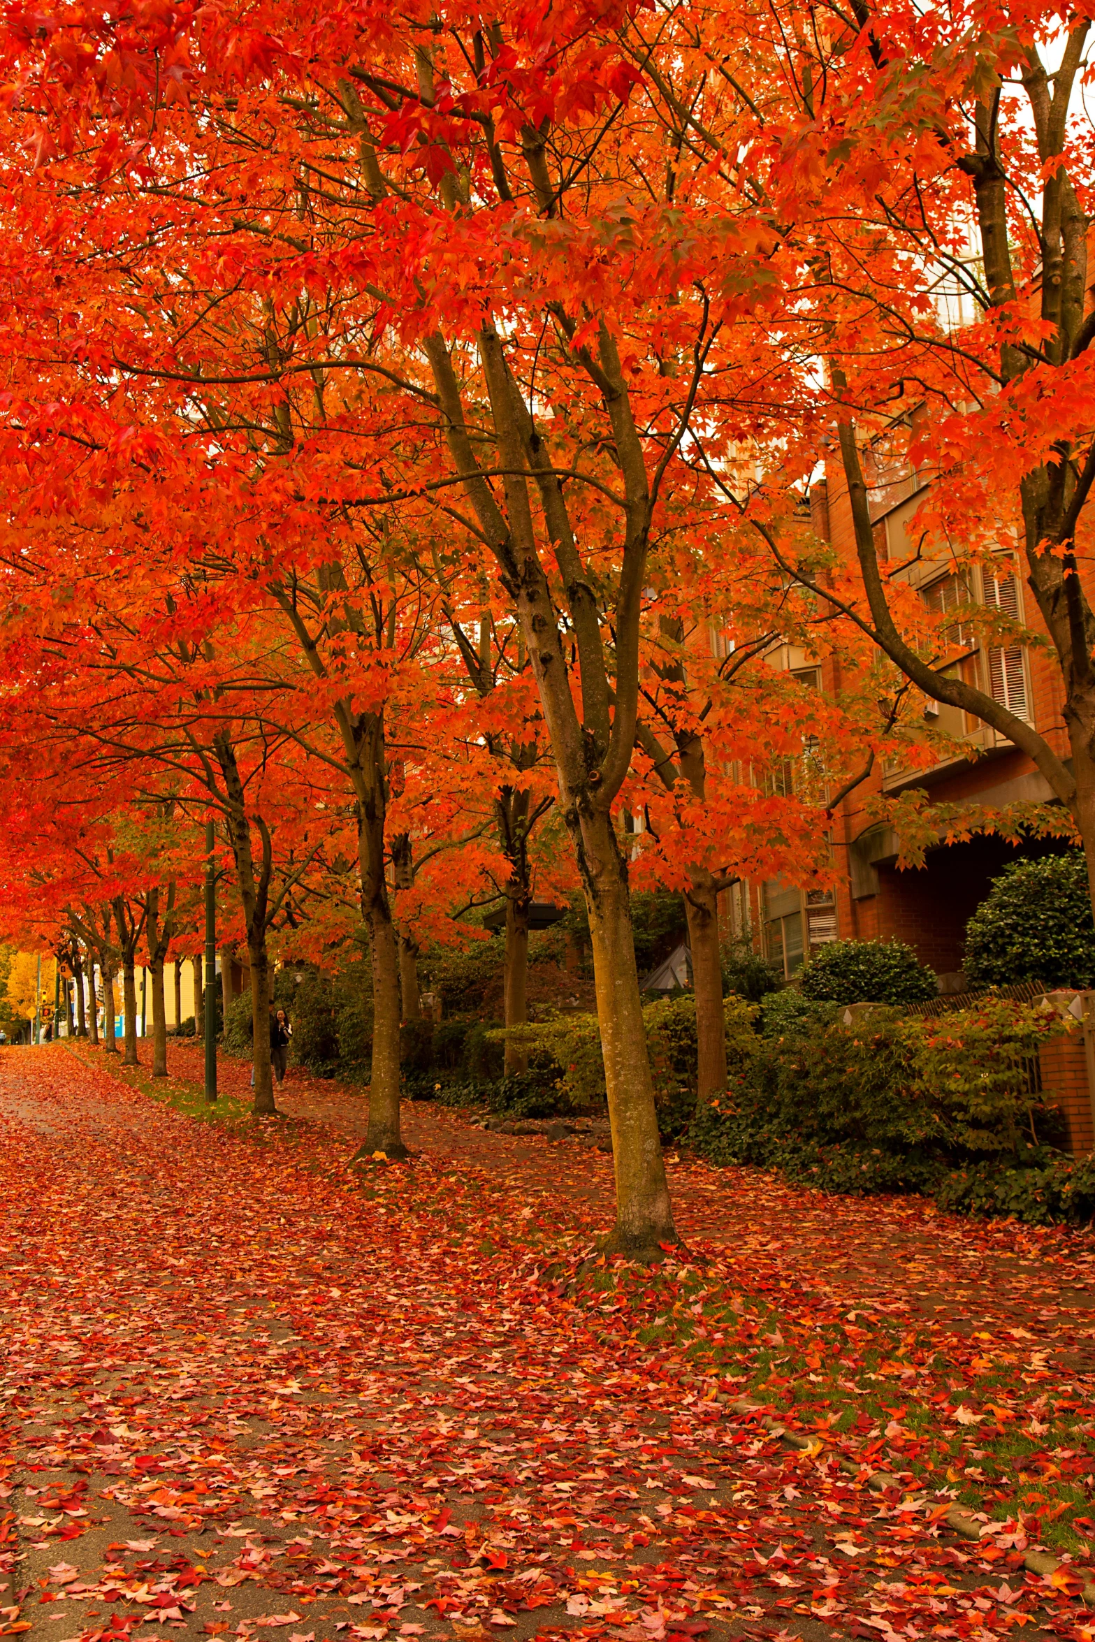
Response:
[{"label": "wide yellow-green hedge in front of the low brick wall at right", "polygon": [[1052,1008],[996,997],[932,1020],[798,1021],[755,1039],[690,1141],[712,1163],[778,1167],[826,1190],[929,1190],[967,1212],[1072,1218],[1087,1177],[1065,1190],[1074,1166],[1052,1149],[1052,1090],[1031,1092],[1033,1057],[1065,1030]]}]

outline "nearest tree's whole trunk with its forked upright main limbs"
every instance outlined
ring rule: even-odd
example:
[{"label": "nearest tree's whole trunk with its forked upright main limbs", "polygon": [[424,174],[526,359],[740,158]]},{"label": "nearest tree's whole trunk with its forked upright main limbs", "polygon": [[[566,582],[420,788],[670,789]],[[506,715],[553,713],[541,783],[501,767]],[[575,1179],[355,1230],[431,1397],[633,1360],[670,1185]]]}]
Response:
[{"label": "nearest tree's whole trunk with its forked upright main limbs", "polygon": [[[527,149],[530,169],[543,169],[543,151]],[[550,190],[542,177],[542,190]],[[466,496],[476,509],[484,540],[514,601],[524,642],[552,737],[560,775],[560,798],[573,839],[589,911],[601,1048],[612,1126],[616,1166],[616,1227],[606,1253],[657,1259],[660,1246],[678,1243],[662,1159],[653,1080],[647,1054],[639,974],[632,939],[627,867],[611,821],[611,803],[630,765],[639,711],[639,629],[647,581],[647,544],[652,519],[642,438],[632,417],[629,386],[607,323],[601,322],[598,378],[619,471],[627,496],[625,539],[614,599],[614,701],[604,658],[598,594],[576,545],[566,498],[552,471],[552,455],[534,424],[506,358],[506,345],[486,320],[476,338],[489,396],[494,442],[491,456],[504,471],[499,496],[486,483],[468,430],[460,379],[443,337],[424,335],[433,386],[445,415],[447,442]],[[479,410],[476,407],[476,415]],[[537,521],[527,475],[538,489],[555,565],[565,583],[570,632],[557,619],[555,591],[540,560]],[[497,544],[497,545],[496,545]],[[571,688],[566,652],[576,654],[581,711]]]}]

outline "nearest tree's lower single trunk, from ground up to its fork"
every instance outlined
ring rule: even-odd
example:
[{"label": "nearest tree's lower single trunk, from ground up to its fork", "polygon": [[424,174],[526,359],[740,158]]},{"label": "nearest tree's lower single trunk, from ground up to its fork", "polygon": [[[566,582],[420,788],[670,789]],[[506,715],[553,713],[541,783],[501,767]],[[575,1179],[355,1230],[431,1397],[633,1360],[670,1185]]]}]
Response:
[{"label": "nearest tree's lower single trunk, from ground up to its fork", "polygon": [[604,1253],[650,1256],[676,1245],[662,1158],[624,862],[611,818],[581,819],[578,862],[589,913],[601,1054],[612,1128],[616,1227]]}]

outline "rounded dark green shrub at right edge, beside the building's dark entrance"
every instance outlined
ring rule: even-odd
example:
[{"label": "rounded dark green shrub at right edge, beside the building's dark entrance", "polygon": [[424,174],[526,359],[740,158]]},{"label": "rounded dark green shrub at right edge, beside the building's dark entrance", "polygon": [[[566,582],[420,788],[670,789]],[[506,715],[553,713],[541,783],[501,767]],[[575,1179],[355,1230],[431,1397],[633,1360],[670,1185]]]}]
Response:
[{"label": "rounded dark green shrub at right edge, beside the building's dark entrance", "polygon": [[1095,921],[1084,852],[1005,867],[965,926],[964,969],[975,985],[1090,987]]}]

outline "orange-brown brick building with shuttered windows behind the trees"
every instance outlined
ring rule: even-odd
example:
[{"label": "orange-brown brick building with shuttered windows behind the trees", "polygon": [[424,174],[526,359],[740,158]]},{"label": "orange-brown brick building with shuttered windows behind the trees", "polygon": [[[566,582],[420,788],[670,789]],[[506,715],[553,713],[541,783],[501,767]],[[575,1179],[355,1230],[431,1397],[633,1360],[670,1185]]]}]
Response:
[{"label": "orange-brown brick building with shuttered windows behind the trees", "polygon": [[[909,522],[926,496],[926,486],[908,470],[875,471],[873,478],[870,504],[878,557],[891,563],[911,560],[903,578],[931,609],[942,614],[955,606],[983,603],[1034,631],[1044,631],[1018,560],[1001,553],[996,565],[969,566],[959,578],[951,562],[918,557]],[[852,512],[839,463],[831,465],[826,479],[814,486],[809,504],[818,534],[854,558]],[[947,642],[947,670],[1005,703],[1067,757],[1061,716],[1064,691],[1052,658],[1021,645],[983,647],[960,622],[949,629]],[[836,662],[811,663],[791,645],[783,645],[770,660],[821,690],[841,688]],[[975,757],[941,759],[928,770],[887,765],[844,800],[832,824],[834,890],[808,890],[780,880],[731,888],[732,929],[749,928],[788,977],[811,951],[834,938],[896,938],[908,941],[921,961],[931,964],[942,990],[959,990],[965,923],[985,900],[992,878],[1018,855],[1061,847],[1052,841],[1013,847],[998,837],[975,837],[929,851],[923,869],[898,870],[900,839],[891,826],[872,823],[865,810],[870,795],[924,788],[934,801],[974,800],[993,808],[1052,798],[1033,760],[980,719],[937,703],[926,703],[924,708],[926,719],[962,741]]]}]

